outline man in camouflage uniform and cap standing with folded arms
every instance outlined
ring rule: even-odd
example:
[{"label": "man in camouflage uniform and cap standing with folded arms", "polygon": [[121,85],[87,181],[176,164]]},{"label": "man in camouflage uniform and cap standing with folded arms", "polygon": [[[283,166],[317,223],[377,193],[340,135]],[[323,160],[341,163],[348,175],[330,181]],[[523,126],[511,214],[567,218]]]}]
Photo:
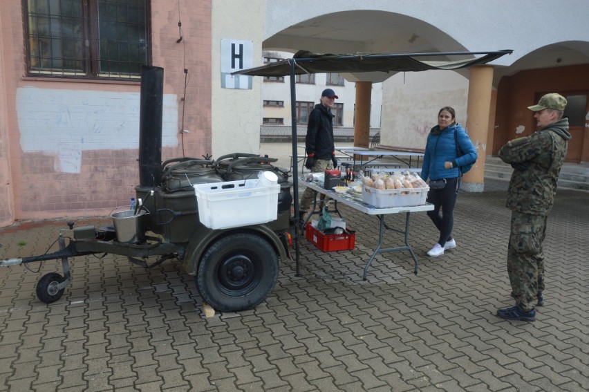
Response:
[{"label": "man in camouflage uniform and cap standing with folded arms", "polygon": [[516,306],[497,310],[504,319],[534,321],[534,300],[543,305],[542,242],[570,140],[568,118],[563,118],[566,103],[563,96],[550,93],[528,106],[539,130],[507,142],[499,151],[501,159],[514,167],[507,196],[512,210],[507,272]]}]

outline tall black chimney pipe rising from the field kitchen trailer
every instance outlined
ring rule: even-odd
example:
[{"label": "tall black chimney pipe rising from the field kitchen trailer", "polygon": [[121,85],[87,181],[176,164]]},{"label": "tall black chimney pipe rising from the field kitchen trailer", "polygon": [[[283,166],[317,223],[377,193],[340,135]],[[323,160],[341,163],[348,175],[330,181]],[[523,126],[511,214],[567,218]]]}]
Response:
[{"label": "tall black chimney pipe rising from the field kitchen trailer", "polygon": [[161,185],[164,68],[141,67],[139,109],[139,184]]}]

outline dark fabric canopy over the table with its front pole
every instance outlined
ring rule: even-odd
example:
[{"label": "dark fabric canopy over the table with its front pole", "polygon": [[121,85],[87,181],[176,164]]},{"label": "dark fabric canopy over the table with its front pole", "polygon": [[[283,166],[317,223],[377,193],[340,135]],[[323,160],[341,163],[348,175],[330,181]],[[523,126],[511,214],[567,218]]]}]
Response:
[{"label": "dark fabric canopy over the table with its front pole", "polygon": [[[364,72],[416,72],[429,70],[454,70],[480,64],[487,64],[503,55],[510,55],[513,50],[498,50],[494,52],[446,52],[446,53],[389,53],[389,54],[361,54],[333,55],[310,53],[299,50],[290,59],[283,59],[255,68],[236,71],[232,75],[249,76],[288,76],[290,75],[290,102],[292,124],[292,156],[297,156],[297,93],[294,75],[303,73],[364,73]],[[483,55],[482,57],[474,57]],[[430,60],[420,60],[418,57]],[[444,61],[440,58],[467,57],[454,61]],[[474,58],[473,58],[474,57]],[[299,233],[302,227],[299,218],[299,173],[298,160],[292,159],[292,183],[294,198],[295,251],[297,256],[297,276],[299,276]]]}]

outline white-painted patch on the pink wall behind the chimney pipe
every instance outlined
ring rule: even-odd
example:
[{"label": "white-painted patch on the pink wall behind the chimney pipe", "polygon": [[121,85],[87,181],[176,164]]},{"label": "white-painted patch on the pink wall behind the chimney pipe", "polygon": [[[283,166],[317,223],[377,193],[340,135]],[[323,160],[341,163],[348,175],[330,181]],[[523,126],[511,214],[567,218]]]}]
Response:
[{"label": "white-painted patch on the pink wall behind the chimney pipe", "polygon": [[[57,155],[55,170],[80,173],[82,152],[139,148],[140,93],[22,87],[21,149]],[[164,94],[162,147],[178,144],[178,100]]]}]

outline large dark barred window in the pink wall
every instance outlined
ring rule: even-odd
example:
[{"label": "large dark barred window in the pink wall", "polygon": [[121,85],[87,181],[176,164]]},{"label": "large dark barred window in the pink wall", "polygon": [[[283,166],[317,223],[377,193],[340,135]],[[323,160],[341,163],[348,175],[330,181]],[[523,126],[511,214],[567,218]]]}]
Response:
[{"label": "large dark barred window in the pink wall", "polygon": [[149,1],[24,0],[28,75],[139,79]]}]

